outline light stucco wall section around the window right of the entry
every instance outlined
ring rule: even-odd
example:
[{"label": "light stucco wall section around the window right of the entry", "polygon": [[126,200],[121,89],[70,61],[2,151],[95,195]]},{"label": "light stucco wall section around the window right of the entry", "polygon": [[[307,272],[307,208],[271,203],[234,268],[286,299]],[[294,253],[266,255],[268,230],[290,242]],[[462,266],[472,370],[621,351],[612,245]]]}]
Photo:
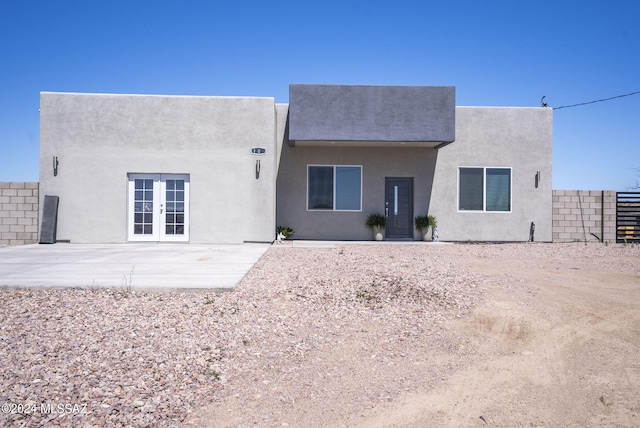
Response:
[{"label": "light stucco wall section around the window right of the entry", "polygon": [[[550,108],[457,107],[456,141],[438,151],[429,213],[443,241],[552,240]],[[512,168],[512,211],[458,211],[459,167]],[[535,187],[535,176],[540,181]]]}]

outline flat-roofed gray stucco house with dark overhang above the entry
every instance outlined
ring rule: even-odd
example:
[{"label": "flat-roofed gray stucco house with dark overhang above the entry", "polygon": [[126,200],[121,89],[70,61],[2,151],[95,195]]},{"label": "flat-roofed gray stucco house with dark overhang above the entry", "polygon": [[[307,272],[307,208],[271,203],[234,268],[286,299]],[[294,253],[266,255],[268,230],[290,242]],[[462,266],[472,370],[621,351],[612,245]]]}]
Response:
[{"label": "flat-roofed gray stucco house with dark overhang above the entry", "polygon": [[[40,198],[74,243],[552,238],[552,110],[454,87],[291,85],[268,97],[41,94]],[[43,209],[40,210],[42,224]]]}]

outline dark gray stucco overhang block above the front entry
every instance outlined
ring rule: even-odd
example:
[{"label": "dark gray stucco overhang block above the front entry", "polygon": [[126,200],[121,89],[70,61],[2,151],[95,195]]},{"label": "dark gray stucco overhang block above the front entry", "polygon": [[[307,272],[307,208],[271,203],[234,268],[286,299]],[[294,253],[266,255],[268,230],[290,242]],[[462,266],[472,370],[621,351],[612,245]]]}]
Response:
[{"label": "dark gray stucco overhang block above the front entry", "polygon": [[455,140],[453,86],[291,85],[291,145],[437,147]]}]

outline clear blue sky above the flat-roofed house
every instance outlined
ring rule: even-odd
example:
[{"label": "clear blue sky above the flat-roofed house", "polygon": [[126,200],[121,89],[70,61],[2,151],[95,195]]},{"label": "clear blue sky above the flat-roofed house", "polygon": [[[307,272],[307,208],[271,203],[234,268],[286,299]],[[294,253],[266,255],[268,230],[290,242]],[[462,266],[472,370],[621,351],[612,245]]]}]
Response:
[{"label": "clear blue sky above the flat-roofed house", "polygon": [[[290,83],[486,106],[640,91],[640,1],[4,1],[0,181],[38,181],[40,91],[288,102]],[[627,190],[639,167],[640,94],[554,111],[554,189]]]}]

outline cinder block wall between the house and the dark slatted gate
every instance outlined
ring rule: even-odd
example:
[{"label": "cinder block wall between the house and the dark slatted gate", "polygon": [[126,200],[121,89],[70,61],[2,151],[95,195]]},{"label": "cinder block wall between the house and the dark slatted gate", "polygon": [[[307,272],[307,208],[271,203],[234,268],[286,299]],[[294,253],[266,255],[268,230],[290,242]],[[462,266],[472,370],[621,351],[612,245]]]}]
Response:
[{"label": "cinder block wall between the house and the dark slatted gate", "polygon": [[597,242],[594,235],[616,242],[616,192],[554,190],[553,242]]}]

